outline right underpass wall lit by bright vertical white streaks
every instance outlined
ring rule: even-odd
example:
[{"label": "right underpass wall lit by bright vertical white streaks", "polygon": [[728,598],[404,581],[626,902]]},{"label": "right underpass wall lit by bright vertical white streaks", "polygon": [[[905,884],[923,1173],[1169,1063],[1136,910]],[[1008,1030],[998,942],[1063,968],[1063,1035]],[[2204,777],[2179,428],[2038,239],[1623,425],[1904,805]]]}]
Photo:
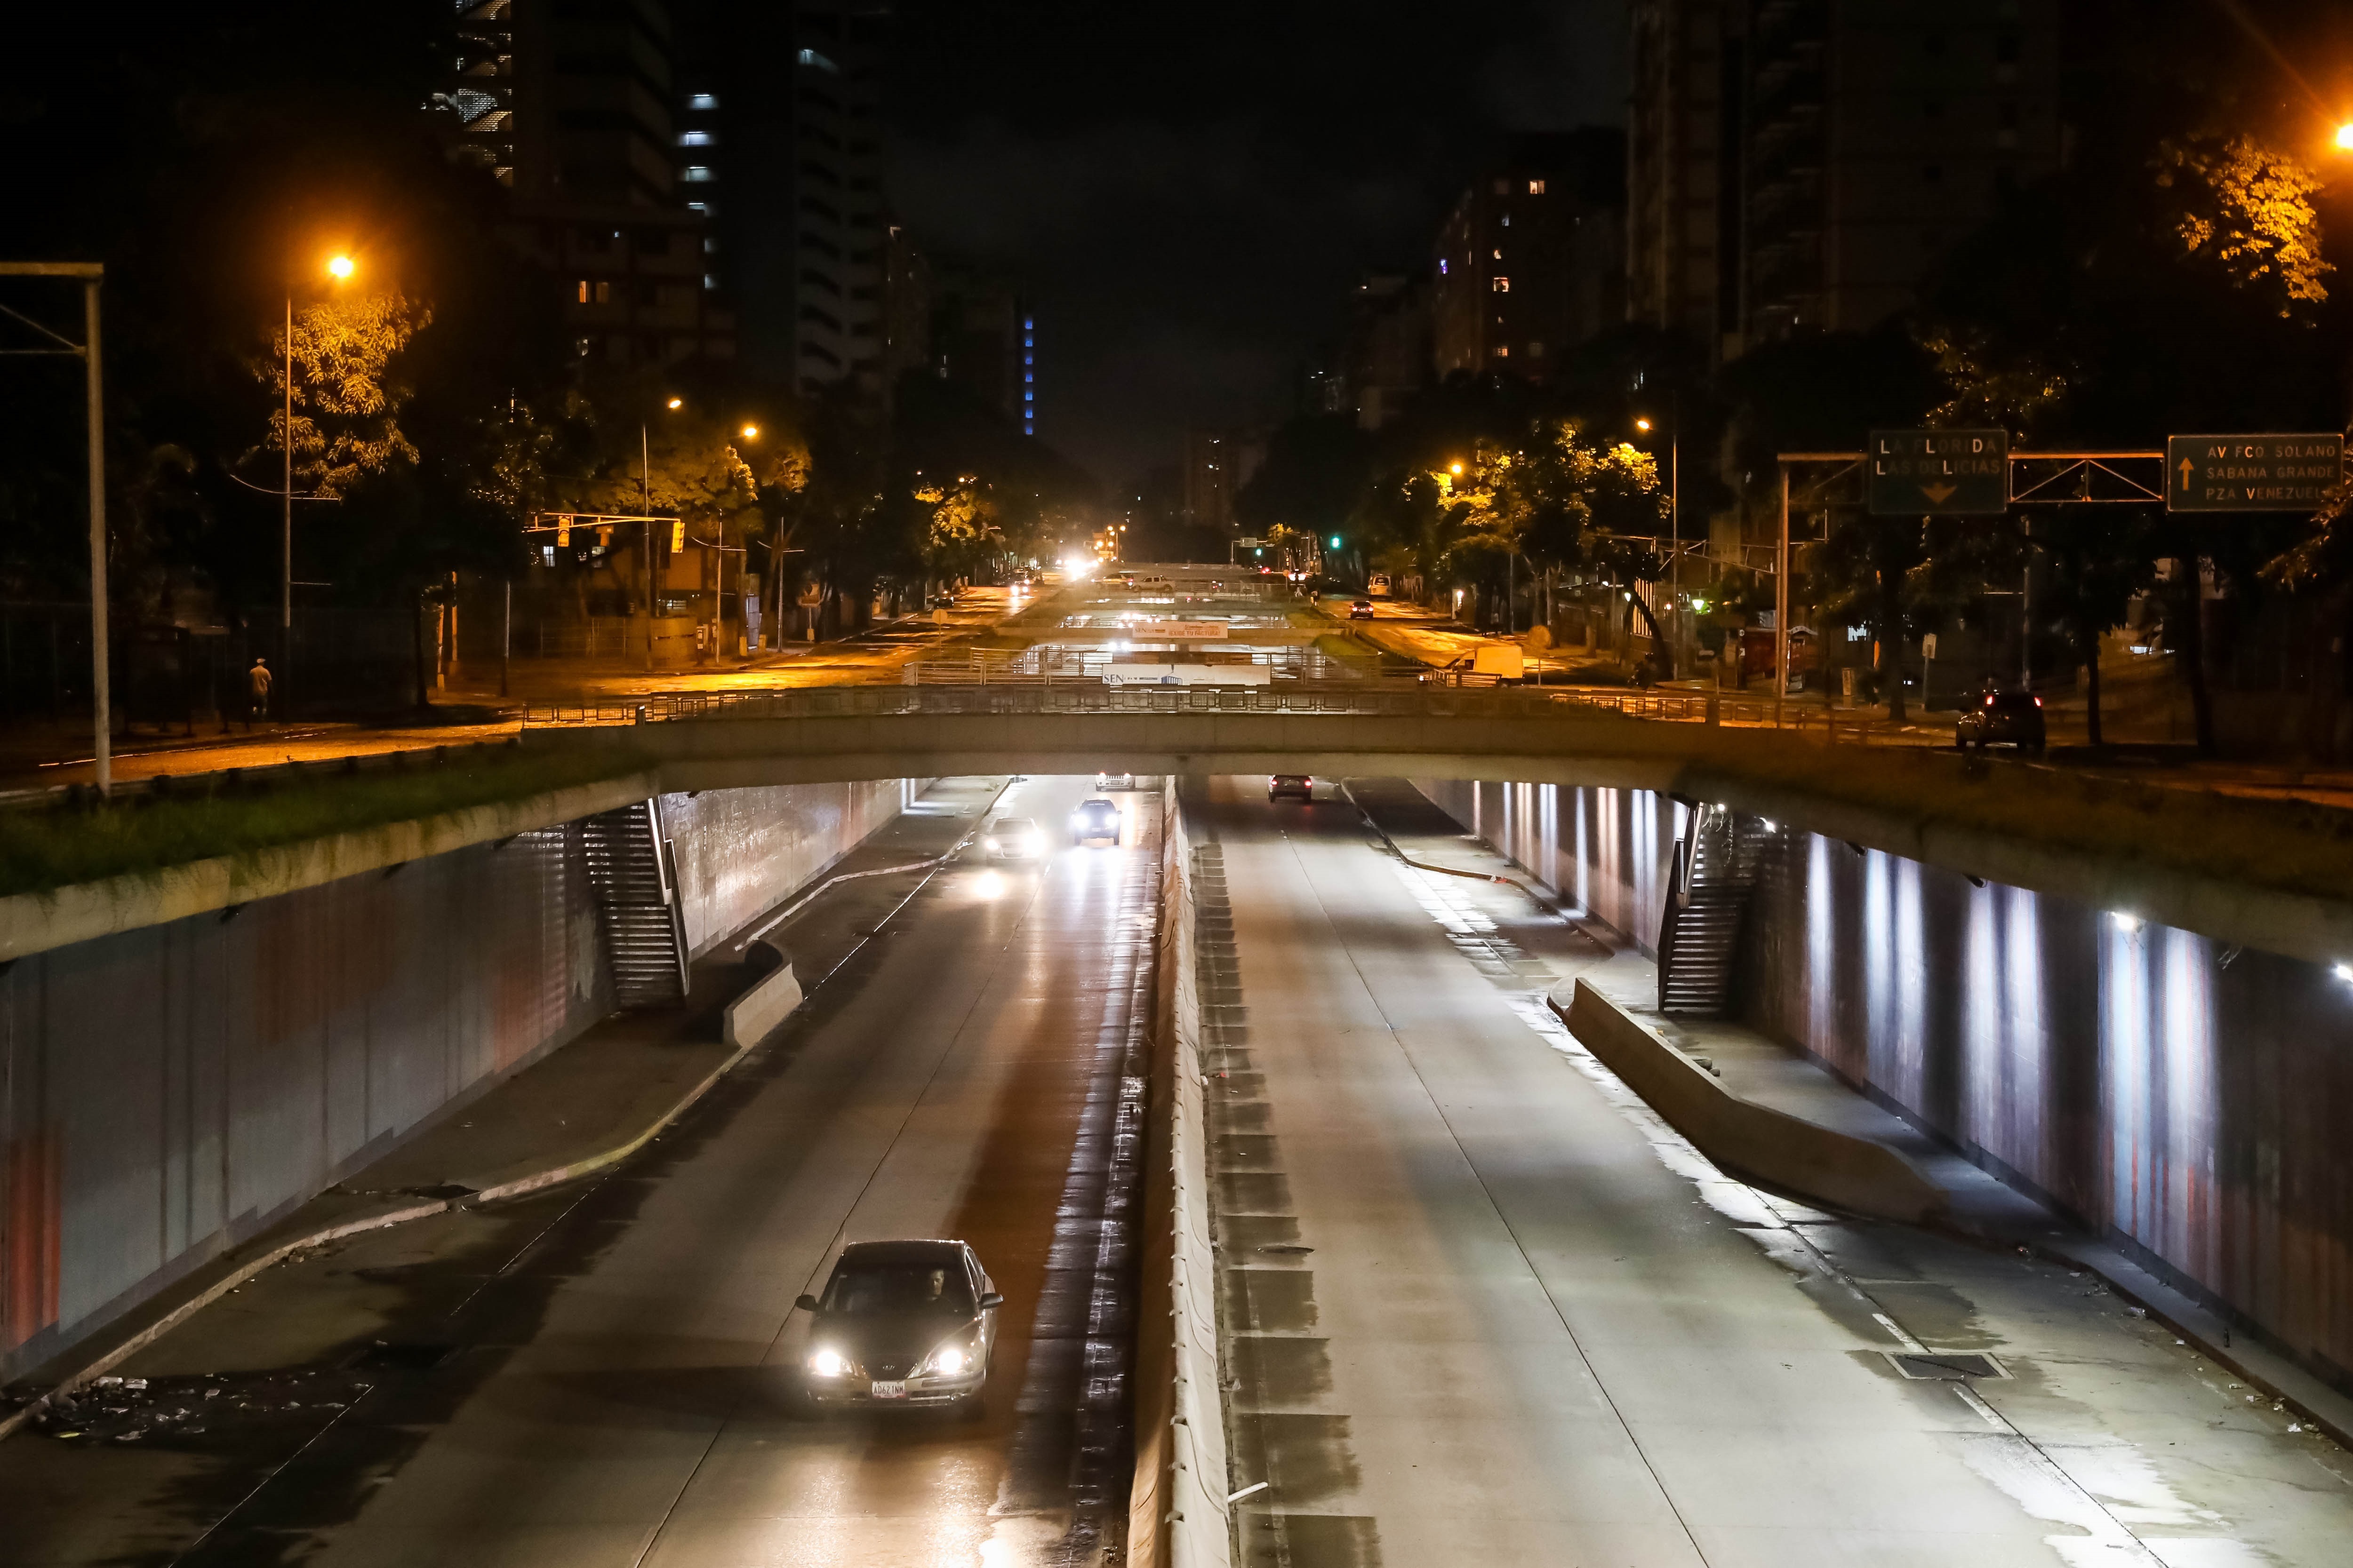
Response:
[{"label": "right underpass wall lit by bright vertical white streaks", "polygon": [[[1417,780],[1652,954],[1680,806]],[[2353,985],[2332,966],[1784,830],[1741,1011],[2353,1387]]]}]

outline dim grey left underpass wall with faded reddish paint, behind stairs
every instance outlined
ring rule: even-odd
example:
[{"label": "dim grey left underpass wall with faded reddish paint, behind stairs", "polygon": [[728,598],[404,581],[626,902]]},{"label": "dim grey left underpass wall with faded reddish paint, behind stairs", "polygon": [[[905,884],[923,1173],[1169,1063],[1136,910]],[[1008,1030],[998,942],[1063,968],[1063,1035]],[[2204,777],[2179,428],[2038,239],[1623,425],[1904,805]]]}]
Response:
[{"label": "dim grey left underpass wall with faded reddish paint, behind stairs", "polygon": [[[925,780],[664,795],[689,947]],[[0,973],[0,1382],[612,1011],[576,827]]]}]

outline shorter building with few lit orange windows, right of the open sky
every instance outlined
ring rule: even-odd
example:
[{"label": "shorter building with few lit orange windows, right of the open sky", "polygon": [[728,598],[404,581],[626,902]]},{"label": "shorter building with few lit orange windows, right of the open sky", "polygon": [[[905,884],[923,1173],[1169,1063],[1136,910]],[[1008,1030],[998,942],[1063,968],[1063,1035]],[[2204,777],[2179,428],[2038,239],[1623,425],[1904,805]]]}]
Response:
[{"label": "shorter building with few lit orange windows, right of the open sky", "polygon": [[1626,143],[1586,127],[1525,136],[1438,235],[1431,339],[1440,378],[1551,381],[1581,341],[1626,315]]}]

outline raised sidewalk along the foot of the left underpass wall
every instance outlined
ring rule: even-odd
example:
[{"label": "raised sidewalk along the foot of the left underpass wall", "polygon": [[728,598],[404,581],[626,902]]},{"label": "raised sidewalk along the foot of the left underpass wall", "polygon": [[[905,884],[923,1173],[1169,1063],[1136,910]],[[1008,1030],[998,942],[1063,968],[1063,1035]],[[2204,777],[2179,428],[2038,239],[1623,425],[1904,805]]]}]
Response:
[{"label": "raised sidewalk along the foot of the left underpass wall", "polygon": [[[953,849],[979,825],[1002,785],[1002,778],[944,778],[826,877],[929,860]],[[779,926],[772,943],[791,954],[802,990],[814,992],[927,875],[849,882]],[[791,903],[786,898],[774,910]],[[774,910],[762,912],[753,929]],[[191,1335],[209,1342],[212,1359],[224,1366],[242,1366],[256,1354],[282,1363],[289,1338],[346,1338],[353,1324],[376,1316],[367,1302],[353,1300],[369,1284],[322,1260],[367,1232],[433,1215],[471,1215],[485,1204],[628,1159],[758,1048],[758,1041],[744,1051],[720,1044],[720,1013],[758,978],[741,961],[739,945],[720,943],[694,964],[685,1011],[614,1013],[572,1044],[445,1107],[400,1147],[12,1387],[0,1396],[0,1439],[24,1425],[120,1432],[146,1422],[146,1401],[120,1387],[104,1399],[104,1406],[120,1408],[111,1418],[87,1399],[28,1401],[49,1389],[71,1392],[111,1371],[136,1375],[165,1352],[167,1335],[174,1345]],[[289,1267],[278,1269],[282,1262]],[[233,1291],[245,1295],[235,1309],[216,1305]],[[379,1333],[391,1338],[398,1331]],[[158,1366],[155,1375],[167,1373]]]}]

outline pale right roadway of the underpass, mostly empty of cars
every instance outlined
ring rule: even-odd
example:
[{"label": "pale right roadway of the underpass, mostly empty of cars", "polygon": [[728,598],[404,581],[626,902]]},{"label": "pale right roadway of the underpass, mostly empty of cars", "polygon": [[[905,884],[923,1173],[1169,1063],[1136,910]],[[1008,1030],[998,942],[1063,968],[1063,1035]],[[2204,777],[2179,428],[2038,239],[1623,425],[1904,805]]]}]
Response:
[{"label": "pale right roadway of the underpass, mostly empty of cars", "polygon": [[[1205,1070],[1233,1483],[1271,1483],[1245,1563],[2346,1561],[2346,1455],[2099,1281],[1715,1171],[1544,1011],[1593,938],[1346,802],[1214,780],[1186,820],[1235,938]],[[1922,1347],[2007,1375],[1906,1378]]]}]

